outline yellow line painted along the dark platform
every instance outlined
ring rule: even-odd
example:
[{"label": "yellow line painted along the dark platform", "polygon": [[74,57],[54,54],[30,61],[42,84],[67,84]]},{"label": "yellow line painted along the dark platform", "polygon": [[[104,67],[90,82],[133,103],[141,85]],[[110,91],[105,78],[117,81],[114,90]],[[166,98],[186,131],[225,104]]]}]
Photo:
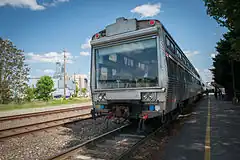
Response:
[{"label": "yellow line painted along the dark platform", "polygon": [[205,158],[204,160],[210,160],[211,155],[211,146],[210,146],[210,119],[211,119],[211,110],[210,110],[211,102],[210,98],[208,98],[208,115],[207,115],[207,127],[206,127],[206,137],[205,137]]}]

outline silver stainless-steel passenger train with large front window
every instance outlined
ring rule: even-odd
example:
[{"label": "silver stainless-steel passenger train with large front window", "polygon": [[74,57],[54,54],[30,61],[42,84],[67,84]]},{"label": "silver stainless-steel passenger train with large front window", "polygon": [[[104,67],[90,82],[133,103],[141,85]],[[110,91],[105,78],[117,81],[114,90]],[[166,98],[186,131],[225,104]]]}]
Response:
[{"label": "silver stainless-steel passenger train with large front window", "polygon": [[205,91],[199,73],[157,19],[117,18],[90,44],[90,89],[97,113],[165,121]]}]

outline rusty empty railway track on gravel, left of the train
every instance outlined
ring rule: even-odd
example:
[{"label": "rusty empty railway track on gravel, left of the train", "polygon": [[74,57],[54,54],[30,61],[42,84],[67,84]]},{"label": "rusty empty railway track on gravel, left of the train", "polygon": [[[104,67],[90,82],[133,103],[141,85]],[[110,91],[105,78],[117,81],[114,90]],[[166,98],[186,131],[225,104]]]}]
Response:
[{"label": "rusty empty railway track on gravel, left of the train", "polygon": [[91,106],[0,117],[0,140],[91,118]]}]

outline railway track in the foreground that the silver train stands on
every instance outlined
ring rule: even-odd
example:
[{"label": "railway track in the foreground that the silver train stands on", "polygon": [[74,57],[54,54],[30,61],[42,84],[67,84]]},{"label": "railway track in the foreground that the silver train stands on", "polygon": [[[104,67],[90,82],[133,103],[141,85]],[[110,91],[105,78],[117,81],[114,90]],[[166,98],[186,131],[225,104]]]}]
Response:
[{"label": "railway track in the foreground that the silver train stands on", "polygon": [[137,128],[126,124],[50,157],[49,160],[127,160],[137,147],[152,138],[157,132],[164,133],[166,126],[177,117],[178,115],[161,126],[152,126],[144,133],[137,133]]}]

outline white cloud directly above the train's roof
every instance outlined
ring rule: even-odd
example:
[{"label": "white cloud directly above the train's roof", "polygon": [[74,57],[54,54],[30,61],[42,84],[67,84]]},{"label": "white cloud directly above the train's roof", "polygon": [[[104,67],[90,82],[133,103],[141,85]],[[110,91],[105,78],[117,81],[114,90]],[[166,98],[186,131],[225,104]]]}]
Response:
[{"label": "white cloud directly above the train's roof", "polygon": [[161,4],[143,4],[132,9],[132,13],[138,13],[141,17],[153,17],[160,13]]}]

